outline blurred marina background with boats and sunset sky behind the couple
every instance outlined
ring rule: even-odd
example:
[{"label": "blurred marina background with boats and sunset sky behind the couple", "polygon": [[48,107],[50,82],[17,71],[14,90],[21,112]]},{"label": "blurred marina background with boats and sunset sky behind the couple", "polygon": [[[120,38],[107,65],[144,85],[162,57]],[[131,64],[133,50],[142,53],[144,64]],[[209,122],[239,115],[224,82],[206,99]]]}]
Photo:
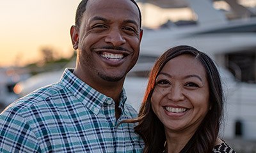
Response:
[{"label": "blurred marina background with boats and sunset sky behind the couple", "polygon": [[[74,68],[70,41],[80,0],[0,0],[0,112]],[[237,152],[256,152],[256,0],[138,0],[143,40],[125,80],[140,108],[157,57],[176,45],[209,54],[220,68],[227,105],[221,136]]]}]

